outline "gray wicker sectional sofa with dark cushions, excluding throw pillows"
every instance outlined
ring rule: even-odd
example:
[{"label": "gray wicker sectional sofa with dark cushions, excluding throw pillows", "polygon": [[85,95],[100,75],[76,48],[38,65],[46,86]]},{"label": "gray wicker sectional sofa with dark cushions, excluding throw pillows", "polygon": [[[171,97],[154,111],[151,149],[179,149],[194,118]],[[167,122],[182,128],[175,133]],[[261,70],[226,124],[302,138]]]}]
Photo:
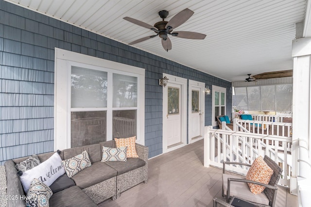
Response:
[{"label": "gray wicker sectional sofa with dark cushions, excluding throw pillows", "polygon": [[[101,162],[102,149],[116,147],[115,141],[107,141],[81,147],[69,148],[60,152],[61,159],[70,159],[87,151],[91,166],[73,175],[66,173],[50,186],[53,195],[50,207],[87,206],[93,207],[108,198],[116,199],[120,193],[148,178],[148,147],[136,143],[138,158],[127,158],[126,162]],[[37,155],[40,162],[49,159],[54,152]],[[17,175],[16,163],[25,158],[11,159],[4,163],[7,177],[7,195],[22,198],[25,195]],[[25,200],[9,199],[8,207],[23,207]]]}]

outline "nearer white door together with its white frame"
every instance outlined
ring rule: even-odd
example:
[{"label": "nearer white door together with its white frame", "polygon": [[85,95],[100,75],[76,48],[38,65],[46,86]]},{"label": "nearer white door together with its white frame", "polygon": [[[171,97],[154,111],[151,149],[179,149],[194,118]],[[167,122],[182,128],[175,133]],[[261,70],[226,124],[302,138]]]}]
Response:
[{"label": "nearer white door together with its white frame", "polygon": [[163,153],[187,144],[187,79],[169,74],[163,87]]}]

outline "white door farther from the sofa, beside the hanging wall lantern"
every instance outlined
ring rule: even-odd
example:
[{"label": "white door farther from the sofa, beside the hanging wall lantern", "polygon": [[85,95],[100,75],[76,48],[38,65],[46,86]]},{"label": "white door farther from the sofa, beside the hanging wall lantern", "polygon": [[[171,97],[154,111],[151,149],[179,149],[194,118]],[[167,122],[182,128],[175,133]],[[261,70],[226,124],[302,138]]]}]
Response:
[{"label": "white door farther from the sofa, beside the hanging wall lantern", "polygon": [[189,139],[190,143],[203,139],[205,111],[205,83],[189,80]]}]

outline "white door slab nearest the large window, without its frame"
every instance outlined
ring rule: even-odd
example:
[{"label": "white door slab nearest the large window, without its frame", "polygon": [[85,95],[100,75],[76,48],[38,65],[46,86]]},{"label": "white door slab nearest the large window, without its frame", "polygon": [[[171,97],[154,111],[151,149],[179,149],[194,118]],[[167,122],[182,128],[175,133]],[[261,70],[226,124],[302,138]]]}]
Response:
[{"label": "white door slab nearest the large window, without its frame", "polygon": [[180,92],[181,85],[175,83],[167,84],[167,145],[181,143],[181,110]]}]

